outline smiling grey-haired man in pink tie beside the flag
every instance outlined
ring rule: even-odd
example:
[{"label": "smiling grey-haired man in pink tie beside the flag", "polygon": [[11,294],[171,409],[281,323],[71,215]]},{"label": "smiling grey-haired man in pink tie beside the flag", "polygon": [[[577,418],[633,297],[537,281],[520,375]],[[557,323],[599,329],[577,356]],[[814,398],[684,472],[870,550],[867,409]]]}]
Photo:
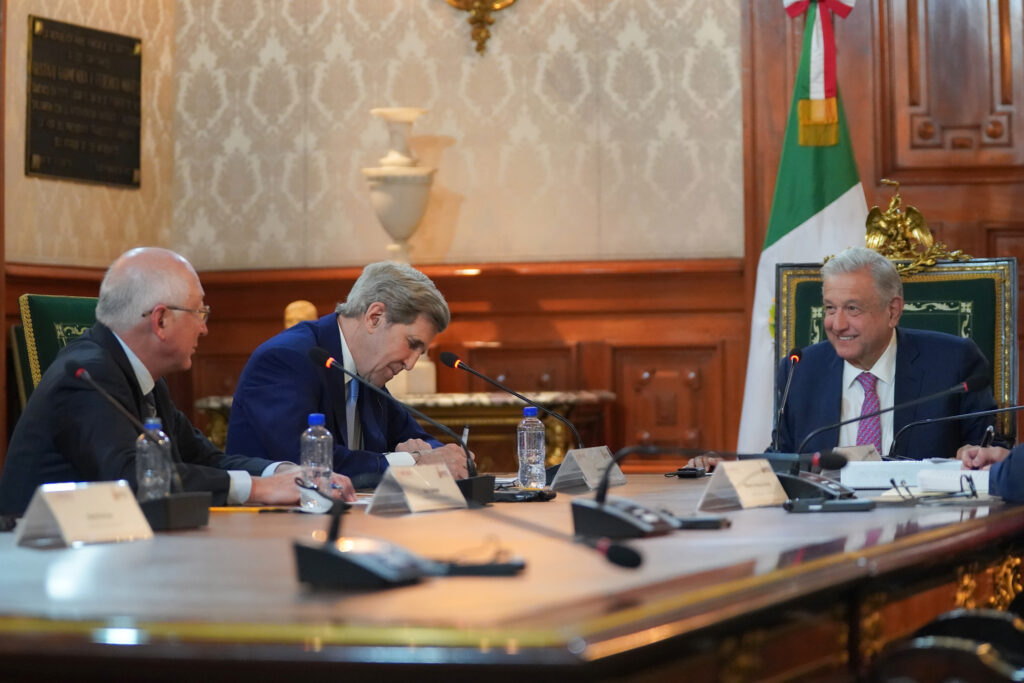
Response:
[{"label": "smiling grey-haired man in pink tie beside the flag", "polygon": [[[824,328],[828,338],[804,349],[793,373],[778,424],[778,451],[795,452],[810,432],[938,393],[969,377],[989,375],[988,361],[970,339],[897,327],[903,285],[889,259],[864,247],[839,254],[821,268]],[[790,360],[775,386],[785,385]],[[901,427],[928,418],[995,408],[991,388],[950,394],[865,418],[811,438],[807,453],[837,445],[871,444],[883,455]],[[900,438],[897,453],[913,459],[954,458],[980,443],[991,418],[922,425]]]}]

